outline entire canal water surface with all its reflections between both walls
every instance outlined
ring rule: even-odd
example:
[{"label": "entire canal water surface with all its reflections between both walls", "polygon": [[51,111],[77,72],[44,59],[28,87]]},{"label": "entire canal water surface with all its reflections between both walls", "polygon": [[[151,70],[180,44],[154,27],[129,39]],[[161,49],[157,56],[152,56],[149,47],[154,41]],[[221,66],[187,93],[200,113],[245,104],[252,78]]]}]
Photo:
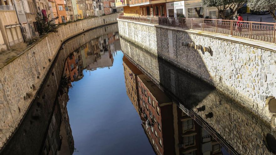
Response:
[{"label": "entire canal water surface with all its reflections between both walls", "polygon": [[273,154],[274,136],[258,116],[120,38],[112,24],[61,47],[0,154]]}]

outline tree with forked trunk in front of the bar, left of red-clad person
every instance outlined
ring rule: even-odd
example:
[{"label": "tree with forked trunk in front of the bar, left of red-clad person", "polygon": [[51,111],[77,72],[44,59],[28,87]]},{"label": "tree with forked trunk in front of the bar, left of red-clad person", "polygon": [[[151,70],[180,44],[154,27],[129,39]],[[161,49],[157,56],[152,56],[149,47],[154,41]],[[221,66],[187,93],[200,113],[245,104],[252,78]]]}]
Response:
[{"label": "tree with forked trunk in front of the bar, left of red-clad person", "polygon": [[[216,7],[221,18],[229,20],[246,2],[247,0],[201,0],[201,5]],[[229,15],[226,15],[227,9],[230,9]]]}]

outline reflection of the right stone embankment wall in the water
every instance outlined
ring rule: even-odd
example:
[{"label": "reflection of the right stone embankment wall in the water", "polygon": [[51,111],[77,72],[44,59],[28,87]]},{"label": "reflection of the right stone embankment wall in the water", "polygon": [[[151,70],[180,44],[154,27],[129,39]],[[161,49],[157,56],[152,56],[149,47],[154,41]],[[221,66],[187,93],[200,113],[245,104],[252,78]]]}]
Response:
[{"label": "reflection of the right stone embankment wall in the water", "polygon": [[[267,133],[276,137],[275,128],[244,108],[241,103],[135,44],[125,39],[120,39],[120,42],[124,54],[133,60],[144,74],[200,116],[237,152],[248,155],[273,154],[263,141],[266,141]],[[197,108],[202,106],[205,110],[198,111]],[[213,117],[206,118],[205,114],[210,112]]]}]

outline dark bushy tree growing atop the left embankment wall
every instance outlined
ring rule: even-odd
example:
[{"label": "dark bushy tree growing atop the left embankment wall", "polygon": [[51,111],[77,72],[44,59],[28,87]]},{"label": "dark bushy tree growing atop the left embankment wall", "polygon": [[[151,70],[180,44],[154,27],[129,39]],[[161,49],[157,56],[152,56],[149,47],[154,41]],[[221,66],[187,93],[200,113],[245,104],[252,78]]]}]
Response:
[{"label": "dark bushy tree growing atop the left embankment wall", "polygon": [[55,20],[58,18],[52,18],[51,20],[49,19],[50,15],[44,16],[41,13],[36,14],[36,23],[37,23],[37,30],[40,36],[47,34],[49,32],[57,32],[57,28],[59,27],[56,23]]}]

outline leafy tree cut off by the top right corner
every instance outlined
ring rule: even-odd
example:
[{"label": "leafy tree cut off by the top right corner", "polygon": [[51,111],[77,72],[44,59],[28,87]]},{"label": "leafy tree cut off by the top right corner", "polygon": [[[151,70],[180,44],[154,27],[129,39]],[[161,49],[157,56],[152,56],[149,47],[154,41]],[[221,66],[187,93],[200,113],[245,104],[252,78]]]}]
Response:
[{"label": "leafy tree cut off by the top right corner", "polygon": [[247,6],[254,11],[267,11],[276,20],[276,0],[248,0]]}]

